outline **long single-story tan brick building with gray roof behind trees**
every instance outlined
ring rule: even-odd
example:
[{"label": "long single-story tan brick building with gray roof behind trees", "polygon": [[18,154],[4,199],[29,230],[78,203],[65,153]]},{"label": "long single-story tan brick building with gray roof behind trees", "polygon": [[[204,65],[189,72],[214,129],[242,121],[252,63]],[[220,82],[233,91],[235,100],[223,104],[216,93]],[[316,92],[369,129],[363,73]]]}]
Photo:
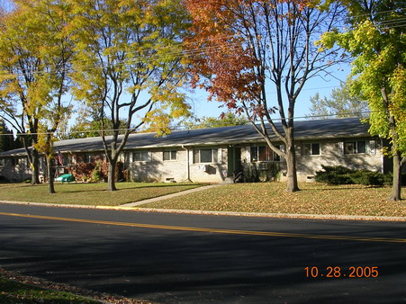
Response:
[{"label": "long single-story tan brick building with gray roof behind trees", "polygon": [[[368,128],[359,118],[295,121],[298,180],[313,181],[321,165],[389,171],[391,163],[383,156],[383,140],[371,137]],[[273,140],[284,148],[276,137]],[[101,138],[61,140],[54,147],[63,155],[60,173],[105,159]],[[232,181],[237,171],[243,172],[245,181],[286,178],[284,159],[268,148],[249,124],[174,130],[163,137],[131,134],[120,161],[131,181],[221,183]],[[41,174],[44,172],[41,160]],[[0,175],[11,181],[31,177],[23,148],[0,153]]]}]

